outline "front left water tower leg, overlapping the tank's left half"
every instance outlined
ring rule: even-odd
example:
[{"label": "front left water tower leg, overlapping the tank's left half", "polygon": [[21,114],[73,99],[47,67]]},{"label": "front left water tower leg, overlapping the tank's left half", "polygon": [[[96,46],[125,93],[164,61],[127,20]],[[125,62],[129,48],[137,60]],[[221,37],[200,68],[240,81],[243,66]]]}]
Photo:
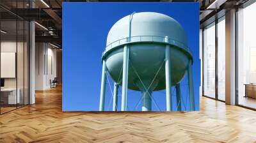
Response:
[{"label": "front left water tower leg, overlapping the tank's left half", "polygon": [[127,86],[128,86],[128,65],[129,65],[129,47],[124,46],[123,62],[123,80],[122,80],[122,111],[127,110]]}]

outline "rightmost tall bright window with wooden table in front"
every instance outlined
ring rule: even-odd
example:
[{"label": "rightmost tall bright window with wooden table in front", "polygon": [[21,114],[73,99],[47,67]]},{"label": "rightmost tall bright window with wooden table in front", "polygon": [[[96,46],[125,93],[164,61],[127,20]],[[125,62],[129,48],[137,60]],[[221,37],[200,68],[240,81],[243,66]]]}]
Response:
[{"label": "rightmost tall bright window with wooden table in front", "polygon": [[256,109],[256,3],[237,11],[237,89],[239,105]]}]

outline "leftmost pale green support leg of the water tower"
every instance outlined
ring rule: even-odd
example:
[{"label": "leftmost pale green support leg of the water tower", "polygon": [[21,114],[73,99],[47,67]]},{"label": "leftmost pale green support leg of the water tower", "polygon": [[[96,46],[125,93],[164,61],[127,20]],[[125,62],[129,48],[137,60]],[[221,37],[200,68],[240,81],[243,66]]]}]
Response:
[{"label": "leftmost pale green support leg of the water tower", "polygon": [[100,86],[100,107],[99,111],[104,111],[105,106],[105,91],[106,91],[106,61],[102,61],[102,75]]}]

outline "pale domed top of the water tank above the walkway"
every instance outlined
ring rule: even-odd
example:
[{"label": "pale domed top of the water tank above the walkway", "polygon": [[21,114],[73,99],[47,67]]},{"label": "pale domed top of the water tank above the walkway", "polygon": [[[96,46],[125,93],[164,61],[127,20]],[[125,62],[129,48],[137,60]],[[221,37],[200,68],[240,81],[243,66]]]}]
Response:
[{"label": "pale domed top of the water tank above the walkway", "polygon": [[[130,18],[132,17],[132,19]],[[132,41],[172,41],[170,44],[188,49],[186,33],[179,22],[167,15],[156,12],[140,12],[127,15],[118,20],[110,29],[107,38],[106,51],[111,50],[129,38],[129,25],[131,19]],[[109,46],[111,45],[111,46]]]}]

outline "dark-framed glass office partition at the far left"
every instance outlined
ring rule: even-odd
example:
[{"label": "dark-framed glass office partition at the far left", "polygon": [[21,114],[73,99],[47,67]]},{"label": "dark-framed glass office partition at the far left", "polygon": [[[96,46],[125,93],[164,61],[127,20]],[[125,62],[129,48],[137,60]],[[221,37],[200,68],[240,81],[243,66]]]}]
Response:
[{"label": "dark-framed glass office partition at the far left", "polygon": [[[28,8],[26,3],[0,2],[13,10]],[[0,114],[3,114],[29,104],[29,22],[0,8],[0,30]]]}]

